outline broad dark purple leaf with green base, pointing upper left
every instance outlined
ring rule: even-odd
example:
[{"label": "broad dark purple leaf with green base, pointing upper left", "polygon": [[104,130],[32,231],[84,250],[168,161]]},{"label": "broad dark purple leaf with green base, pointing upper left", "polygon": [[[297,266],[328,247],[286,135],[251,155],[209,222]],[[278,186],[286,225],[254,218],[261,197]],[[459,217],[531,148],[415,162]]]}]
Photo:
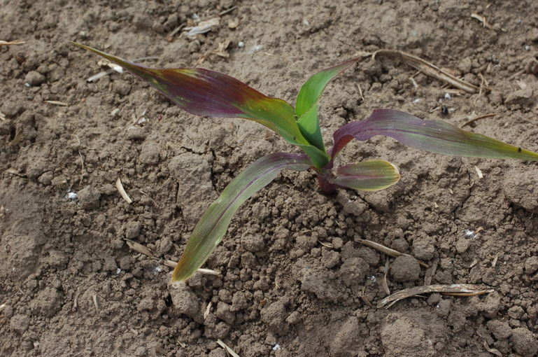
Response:
[{"label": "broad dark purple leaf with green base, pointing upper left", "polygon": [[197,116],[245,118],[265,125],[290,144],[300,146],[316,167],[329,161],[324,149],[304,138],[295,111],[282,99],[270,98],[224,73],[201,68],[153,69],[72,42],[119,64],[169,97],[181,109]]}]

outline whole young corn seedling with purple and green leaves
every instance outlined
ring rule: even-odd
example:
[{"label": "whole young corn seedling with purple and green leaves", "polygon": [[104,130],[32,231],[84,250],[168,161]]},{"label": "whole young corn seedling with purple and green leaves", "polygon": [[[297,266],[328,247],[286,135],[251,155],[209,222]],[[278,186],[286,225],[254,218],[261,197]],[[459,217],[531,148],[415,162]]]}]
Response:
[{"label": "whole young corn seedling with purple and green leaves", "polygon": [[157,88],[185,111],[197,116],[246,118],[269,127],[306,154],[272,153],[243,170],[222,191],[194,228],[172,274],[173,281],[188,279],[206,262],[241,204],[273,181],[283,169],[313,169],[323,193],[337,186],[355,190],[382,190],[399,180],[395,165],[368,160],[334,167],[334,159],[352,139],[376,135],[392,137],[413,148],[445,155],[474,158],[538,160],[538,154],[481,134],[466,132],[440,120],[422,120],[392,109],[378,109],[369,118],[348,123],[333,134],[325,150],[318,118],[318,99],[329,81],[355,64],[358,58],[314,74],[297,94],[295,109],[282,99],[270,98],[239,80],[208,69],[152,69],[108,55],[79,43],[82,48],[119,64]]}]

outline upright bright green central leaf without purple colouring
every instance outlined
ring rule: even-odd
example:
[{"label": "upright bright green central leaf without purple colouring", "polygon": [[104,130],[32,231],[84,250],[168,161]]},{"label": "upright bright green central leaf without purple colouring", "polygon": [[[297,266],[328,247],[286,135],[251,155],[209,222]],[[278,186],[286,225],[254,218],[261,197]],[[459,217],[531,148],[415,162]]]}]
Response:
[{"label": "upright bright green central leaf without purple colouring", "polygon": [[320,150],[325,151],[323,137],[321,136],[320,121],[318,118],[318,100],[325,90],[327,83],[337,76],[341,71],[348,69],[355,64],[358,58],[349,59],[348,61],[323,69],[306,80],[302,85],[297,100],[295,102],[295,114],[299,118],[297,124],[304,137]]}]

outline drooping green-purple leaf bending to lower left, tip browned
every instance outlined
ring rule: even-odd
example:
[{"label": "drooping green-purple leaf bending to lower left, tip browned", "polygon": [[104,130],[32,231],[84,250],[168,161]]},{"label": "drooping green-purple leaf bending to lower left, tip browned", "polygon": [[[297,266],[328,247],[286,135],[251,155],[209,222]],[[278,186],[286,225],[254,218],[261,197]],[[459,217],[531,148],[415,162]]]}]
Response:
[{"label": "drooping green-purple leaf bending to lower left, tip browned", "polygon": [[220,243],[232,216],[243,202],[273,181],[283,169],[304,171],[312,162],[306,155],[273,153],[258,159],[226,186],[201,217],[172,273],[173,281],[190,278]]}]

